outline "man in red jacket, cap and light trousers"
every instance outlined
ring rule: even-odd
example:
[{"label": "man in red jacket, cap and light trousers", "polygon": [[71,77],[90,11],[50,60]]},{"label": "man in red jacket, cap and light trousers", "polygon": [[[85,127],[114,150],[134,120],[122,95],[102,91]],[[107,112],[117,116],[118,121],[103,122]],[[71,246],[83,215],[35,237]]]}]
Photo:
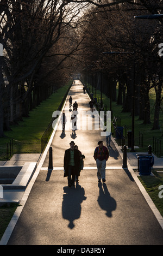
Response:
[{"label": "man in red jacket, cap and light trousers", "polygon": [[97,178],[98,182],[102,181],[105,182],[105,168],[106,168],[106,161],[109,158],[109,151],[108,148],[103,145],[103,141],[98,141],[98,147],[95,148],[95,152],[93,157],[96,160],[97,164]]}]

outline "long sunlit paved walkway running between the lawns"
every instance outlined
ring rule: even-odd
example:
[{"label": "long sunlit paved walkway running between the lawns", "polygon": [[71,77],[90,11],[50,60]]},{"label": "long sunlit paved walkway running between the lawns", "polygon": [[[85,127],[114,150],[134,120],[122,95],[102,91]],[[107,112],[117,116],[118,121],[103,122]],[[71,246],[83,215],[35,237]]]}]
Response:
[{"label": "long sunlit paved walkway running between the lawns", "polygon": [[[76,81],[69,94],[73,102],[78,102],[78,111],[89,110],[89,98],[82,88]],[[77,122],[79,125],[80,117]],[[128,169],[122,169],[122,153],[114,139],[109,147],[106,182],[98,183],[93,151],[98,140],[102,139],[105,145],[101,130],[78,129],[72,134],[69,127],[65,135],[58,129],[53,133],[48,147],[53,147],[54,169],[48,170],[47,148],[22,198],[22,206],[8,227],[9,233],[16,224],[8,245],[163,245],[163,225],[161,228],[154,215],[156,209],[131,162]],[[86,157],[75,188],[67,187],[67,178],[63,177],[64,152],[71,140]]]}]

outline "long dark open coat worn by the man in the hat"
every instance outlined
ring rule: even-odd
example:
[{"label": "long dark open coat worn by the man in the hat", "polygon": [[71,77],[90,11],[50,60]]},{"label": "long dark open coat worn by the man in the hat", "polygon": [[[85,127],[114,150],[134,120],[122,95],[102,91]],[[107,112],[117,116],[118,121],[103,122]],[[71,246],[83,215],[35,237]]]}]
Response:
[{"label": "long dark open coat worn by the man in the hat", "polygon": [[[68,150],[65,151],[65,156],[64,156],[64,177],[68,176],[68,164],[70,162],[70,148],[68,148]],[[74,148],[74,164],[75,164],[75,172],[76,175],[78,175],[79,173],[79,167],[80,167],[80,154],[79,154],[79,150],[76,150],[76,148]]]}]

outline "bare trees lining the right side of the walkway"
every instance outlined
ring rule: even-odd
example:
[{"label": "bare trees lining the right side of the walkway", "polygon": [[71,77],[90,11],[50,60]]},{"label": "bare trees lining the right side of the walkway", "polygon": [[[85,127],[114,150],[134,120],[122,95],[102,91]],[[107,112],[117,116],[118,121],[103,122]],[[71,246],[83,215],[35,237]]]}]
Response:
[{"label": "bare trees lining the right side of the walkway", "polygon": [[[85,79],[88,74],[96,73],[98,82],[102,75],[103,92],[110,96],[111,91],[112,100],[122,104],[123,112],[132,109],[135,87],[135,115],[145,124],[153,122],[153,129],[160,129],[159,116],[162,115],[163,57],[158,54],[158,46],[163,42],[163,19],[138,20],[134,16],[161,12],[161,1],[138,0],[100,9],[93,7],[87,11],[87,22],[81,28],[85,37],[85,54],[81,52]],[[115,81],[118,82],[117,98]],[[152,88],[156,98],[154,120],[151,120],[149,101]]]}]

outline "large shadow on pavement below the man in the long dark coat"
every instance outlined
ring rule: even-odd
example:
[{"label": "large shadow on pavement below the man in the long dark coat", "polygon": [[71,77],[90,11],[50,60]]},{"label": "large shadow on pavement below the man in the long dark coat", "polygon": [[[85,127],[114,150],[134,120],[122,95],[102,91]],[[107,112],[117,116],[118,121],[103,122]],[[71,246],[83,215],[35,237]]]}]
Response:
[{"label": "large shadow on pavement below the man in the long dark coat", "polygon": [[68,228],[73,229],[75,219],[80,218],[81,204],[86,200],[84,188],[78,183],[76,188],[64,187],[64,195],[62,201],[62,217],[69,221]]}]

